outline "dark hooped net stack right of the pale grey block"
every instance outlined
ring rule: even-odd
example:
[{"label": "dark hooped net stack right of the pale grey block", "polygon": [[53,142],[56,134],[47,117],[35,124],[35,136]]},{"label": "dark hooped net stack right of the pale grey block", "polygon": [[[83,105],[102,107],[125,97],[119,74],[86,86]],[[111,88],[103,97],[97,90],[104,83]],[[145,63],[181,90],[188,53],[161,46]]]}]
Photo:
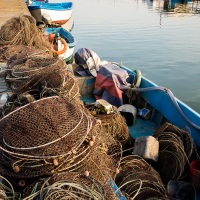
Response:
[{"label": "dark hooped net stack right of the pale grey block", "polygon": [[159,141],[156,169],[163,182],[187,178],[190,160],[198,156],[191,135],[166,122],[153,136]]}]

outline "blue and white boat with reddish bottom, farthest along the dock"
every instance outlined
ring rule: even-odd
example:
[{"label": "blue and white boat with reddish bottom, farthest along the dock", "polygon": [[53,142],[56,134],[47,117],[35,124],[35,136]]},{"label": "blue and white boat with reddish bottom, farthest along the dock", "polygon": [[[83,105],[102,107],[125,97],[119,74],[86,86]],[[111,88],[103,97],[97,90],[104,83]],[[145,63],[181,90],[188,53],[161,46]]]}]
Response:
[{"label": "blue and white boat with reddish bottom, farthest along the dock", "polygon": [[28,9],[37,23],[45,24],[65,24],[72,16],[72,8],[72,2],[31,1],[28,3]]}]

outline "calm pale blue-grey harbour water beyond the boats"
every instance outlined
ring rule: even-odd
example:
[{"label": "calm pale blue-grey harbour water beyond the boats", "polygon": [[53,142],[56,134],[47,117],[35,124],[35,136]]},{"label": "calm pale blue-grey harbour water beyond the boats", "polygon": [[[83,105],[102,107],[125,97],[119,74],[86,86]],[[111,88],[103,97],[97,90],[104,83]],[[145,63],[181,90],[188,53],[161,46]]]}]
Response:
[{"label": "calm pale blue-grey harbour water beyond the boats", "polygon": [[75,51],[89,48],[102,60],[140,69],[200,112],[200,1],[72,2]]}]

